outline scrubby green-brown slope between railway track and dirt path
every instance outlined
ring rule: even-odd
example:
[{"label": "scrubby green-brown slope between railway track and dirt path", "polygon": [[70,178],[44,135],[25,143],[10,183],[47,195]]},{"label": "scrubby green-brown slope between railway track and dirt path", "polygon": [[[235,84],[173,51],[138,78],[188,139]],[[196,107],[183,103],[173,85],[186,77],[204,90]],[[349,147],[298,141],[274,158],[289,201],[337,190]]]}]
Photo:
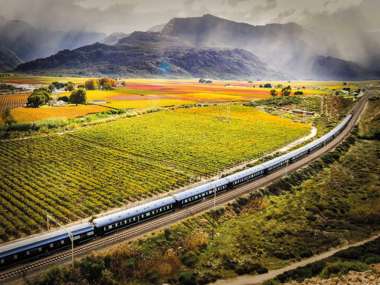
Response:
[{"label": "scrubby green-brown slope between railway track and dirt path", "polygon": [[[370,102],[359,136],[352,135],[296,173],[228,205],[91,255],[75,268],[54,268],[36,284],[209,284],[241,274],[262,274],[371,236],[379,230],[380,143],[376,117],[370,112],[379,102]],[[370,246],[367,251],[371,254],[361,256],[362,251],[355,249],[342,252],[341,258],[352,256],[355,264],[330,259],[298,269],[293,277],[322,269],[325,275],[366,270],[363,261],[378,260],[378,248]],[[276,281],[268,284],[279,284]]]}]

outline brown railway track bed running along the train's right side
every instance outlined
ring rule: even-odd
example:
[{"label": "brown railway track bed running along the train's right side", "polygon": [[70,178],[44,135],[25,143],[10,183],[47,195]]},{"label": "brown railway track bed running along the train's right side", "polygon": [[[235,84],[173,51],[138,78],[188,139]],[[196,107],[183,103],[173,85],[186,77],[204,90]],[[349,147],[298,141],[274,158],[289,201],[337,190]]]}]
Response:
[{"label": "brown railway track bed running along the train's right side", "polygon": [[[188,218],[190,216],[200,214],[210,208],[212,208],[215,205],[222,205],[225,204],[243,194],[249,193],[252,190],[255,190],[259,187],[266,186],[270,184],[271,182],[281,178],[284,175],[287,175],[289,172],[295,171],[306,164],[310,163],[311,161],[319,158],[324,153],[330,151],[331,149],[335,148],[339,143],[341,143],[351,132],[352,128],[355,126],[358,118],[360,117],[365,104],[367,102],[368,95],[363,96],[360,101],[354,106],[352,113],[353,117],[350,123],[347,125],[347,127],[340,133],[339,136],[337,136],[333,141],[331,141],[328,145],[324,146],[323,148],[315,151],[314,153],[310,154],[309,156],[288,165],[285,168],[281,168],[278,171],[271,173],[270,175],[267,175],[261,179],[258,179],[256,181],[250,182],[248,184],[242,185],[232,191],[222,193],[218,196],[216,196],[215,201],[214,199],[208,199],[204,200],[198,204],[194,204],[193,206],[190,206],[185,209],[177,210],[175,212],[172,212],[170,214],[155,218],[153,220],[147,221],[144,224],[140,224],[137,226],[134,226],[132,228],[127,228],[124,230],[117,231],[111,235],[96,238],[88,243],[82,244],[77,246],[74,249],[74,255],[76,257],[83,256],[85,254],[88,254],[94,250],[104,249],[106,246],[110,246],[122,241],[128,241],[131,239],[134,239],[136,237],[142,236],[148,232],[162,229],[164,227],[167,227],[171,224],[174,224],[180,220],[183,220],[185,218]],[[56,264],[62,264],[71,259],[71,249],[58,252],[54,255],[50,255],[44,258],[41,258],[39,260],[31,261],[26,264],[18,265],[14,268],[7,269],[3,272],[0,272],[0,283],[6,284],[13,281],[17,281],[20,278],[23,278],[24,276],[33,275],[36,274],[39,271],[45,270],[48,266],[56,265]]]}]

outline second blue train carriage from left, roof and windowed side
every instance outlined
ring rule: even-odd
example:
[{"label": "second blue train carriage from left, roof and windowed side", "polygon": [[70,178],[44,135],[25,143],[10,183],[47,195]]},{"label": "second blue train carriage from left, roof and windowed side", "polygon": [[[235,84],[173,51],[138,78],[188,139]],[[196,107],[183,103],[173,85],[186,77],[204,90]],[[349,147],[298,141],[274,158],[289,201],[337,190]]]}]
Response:
[{"label": "second blue train carriage from left, roof and windowed side", "polygon": [[148,219],[174,211],[175,206],[176,200],[173,197],[166,197],[96,218],[93,220],[95,233],[97,235],[104,235],[120,228],[142,223]]}]

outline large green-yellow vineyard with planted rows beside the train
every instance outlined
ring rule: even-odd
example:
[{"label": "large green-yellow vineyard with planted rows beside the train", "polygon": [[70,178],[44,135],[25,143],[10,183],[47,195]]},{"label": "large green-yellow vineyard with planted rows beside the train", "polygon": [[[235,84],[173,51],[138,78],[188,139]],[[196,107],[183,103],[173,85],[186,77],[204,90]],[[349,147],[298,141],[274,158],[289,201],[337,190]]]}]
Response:
[{"label": "large green-yellow vineyard with planted rows beside the train", "polygon": [[177,109],[73,133],[0,142],[0,240],[187,185],[304,136],[255,108]]}]

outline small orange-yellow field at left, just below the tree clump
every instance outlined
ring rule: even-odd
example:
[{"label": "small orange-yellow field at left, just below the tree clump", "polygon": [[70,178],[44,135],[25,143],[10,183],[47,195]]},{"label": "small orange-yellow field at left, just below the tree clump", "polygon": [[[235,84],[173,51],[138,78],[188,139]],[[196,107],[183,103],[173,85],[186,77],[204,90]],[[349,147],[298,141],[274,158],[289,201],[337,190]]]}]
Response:
[{"label": "small orange-yellow field at left, just below the tree clump", "polygon": [[18,123],[34,122],[46,119],[70,119],[90,113],[107,111],[103,106],[70,105],[64,107],[16,108],[12,115]]}]

